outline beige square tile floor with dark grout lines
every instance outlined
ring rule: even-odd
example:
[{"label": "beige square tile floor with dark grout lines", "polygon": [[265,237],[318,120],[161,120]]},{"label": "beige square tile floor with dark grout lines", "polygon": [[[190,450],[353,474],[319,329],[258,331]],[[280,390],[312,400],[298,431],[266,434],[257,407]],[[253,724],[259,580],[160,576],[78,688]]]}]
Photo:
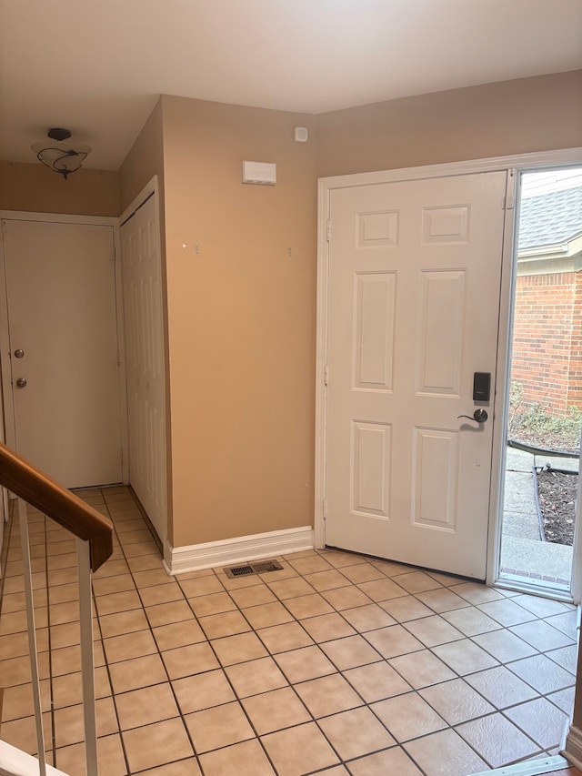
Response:
[{"label": "beige square tile floor with dark grout lines", "polygon": [[[338,551],[228,579],[169,577],[131,494],[82,491],[115,525],[95,574],[104,776],[465,776],[556,754],[577,610]],[[75,540],[29,515],[48,761],[83,774]],[[0,735],[34,752],[19,528],[0,617]]]}]

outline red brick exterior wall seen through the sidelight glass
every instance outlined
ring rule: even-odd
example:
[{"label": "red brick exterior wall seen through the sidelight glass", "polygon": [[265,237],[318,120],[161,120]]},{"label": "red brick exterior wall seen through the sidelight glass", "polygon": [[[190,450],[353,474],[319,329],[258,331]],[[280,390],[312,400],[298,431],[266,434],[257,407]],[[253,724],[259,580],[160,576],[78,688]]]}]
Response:
[{"label": "red brick exterior wall seen through the sidelight glass", "polygon": [[517,277],[511,379],[525,407],[582,408],[582,271]]}]

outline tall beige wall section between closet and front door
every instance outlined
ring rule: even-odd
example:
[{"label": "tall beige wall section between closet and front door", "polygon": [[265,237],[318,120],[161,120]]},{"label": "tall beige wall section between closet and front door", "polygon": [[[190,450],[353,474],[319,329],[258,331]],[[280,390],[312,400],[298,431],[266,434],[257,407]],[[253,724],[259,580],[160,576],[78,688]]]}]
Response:
[{"label": "tall beige wall section between closet and front door", "polygon": [[[180,97],[163,105],[170,540],[310,525],[315,120]],[[295,126],[309,142],[294,141]],[[275,162],[276,186],[242,185],[244,159]]]}]

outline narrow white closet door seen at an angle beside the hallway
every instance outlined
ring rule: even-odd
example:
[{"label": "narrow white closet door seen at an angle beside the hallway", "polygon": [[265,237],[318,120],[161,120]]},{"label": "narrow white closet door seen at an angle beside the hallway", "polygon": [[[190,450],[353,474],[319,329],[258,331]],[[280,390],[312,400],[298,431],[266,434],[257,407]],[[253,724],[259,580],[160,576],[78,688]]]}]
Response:
[{"label": "narrow white closet door seen at an angle beside the hallway", "polygon": [[129,481],[166,537],[166,398],[162,266],[153,195],[121,227]]}]

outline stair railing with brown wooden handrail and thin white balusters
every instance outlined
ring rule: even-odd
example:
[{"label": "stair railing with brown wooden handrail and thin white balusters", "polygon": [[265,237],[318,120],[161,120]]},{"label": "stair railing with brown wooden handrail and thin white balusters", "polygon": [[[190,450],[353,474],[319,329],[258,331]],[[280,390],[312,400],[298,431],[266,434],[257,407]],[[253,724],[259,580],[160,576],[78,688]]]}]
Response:
[{"label": "stair railing with brown wooden handrail and thin white balusters", "polygon": [[[81,673],[83,682],[83,713],[85,722],[86,776],[98,776],[97,734],[95,720],[95,678],[93,659],[93,613],[91,575],[113,552],[113,525],[109,518],[93,509],[82,499],[60,486],[55,480],[35,469],[14,450],[0,442],[0,486],[12,491],[18,499],[18,518],[25,577],[28,644],[35,707],[38,761],[5,741],[0,741],[0,774],[39,773],[40,776],[60,774],[45,763],[45,734],[41,707],[40,680],[36,650],[33,579],[28,538],[26,504],[38,509],[73,533],[77,539],[79,580],[79,621],[81,641]],[[32,762],[31,762],[32,761]],[[34,764],[33,764],[34,763]]]}]

